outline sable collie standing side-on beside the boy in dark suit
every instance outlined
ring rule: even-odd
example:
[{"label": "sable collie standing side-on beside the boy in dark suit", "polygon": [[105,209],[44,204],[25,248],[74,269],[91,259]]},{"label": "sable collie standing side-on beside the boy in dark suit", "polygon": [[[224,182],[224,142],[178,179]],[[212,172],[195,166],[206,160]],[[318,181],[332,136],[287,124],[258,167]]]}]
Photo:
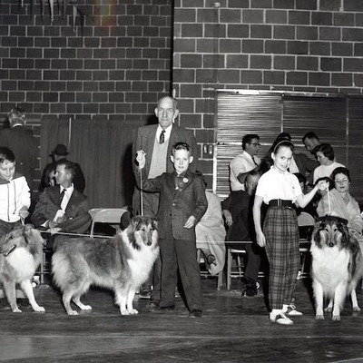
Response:
[{"label": "sable collie standing side-on beside the boy in dark suit", "polygon": [[78,314],[71,308],[71,299],[80,309],[92,309],[80,300],[92,284],[113,289],[122,315],[137,314],[132,299],[149,277],[158,255],[157,221],[150,217],[132,218],[130,225],[112,239],[59,241],[52,266],[67,314]]}]

